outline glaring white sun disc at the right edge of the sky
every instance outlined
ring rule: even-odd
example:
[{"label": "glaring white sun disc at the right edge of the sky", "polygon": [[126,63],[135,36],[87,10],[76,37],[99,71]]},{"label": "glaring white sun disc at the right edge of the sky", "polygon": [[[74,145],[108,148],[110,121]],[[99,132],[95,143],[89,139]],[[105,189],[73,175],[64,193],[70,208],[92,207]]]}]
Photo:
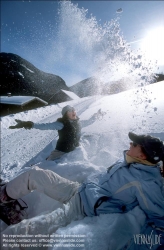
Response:
[{"label": "glaring white sun disc at the right edge of the sky", "polygon": [[164,64],[164,27],[151,30],[142,42],[141,48],[148,59]]}]

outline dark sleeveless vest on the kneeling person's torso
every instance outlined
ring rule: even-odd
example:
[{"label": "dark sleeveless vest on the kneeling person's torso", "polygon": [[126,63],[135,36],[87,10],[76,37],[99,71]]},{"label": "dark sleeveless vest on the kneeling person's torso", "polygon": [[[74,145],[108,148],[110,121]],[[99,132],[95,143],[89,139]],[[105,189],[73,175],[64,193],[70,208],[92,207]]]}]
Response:
[{"label": "dark sleeveless vest on the kneeling person's torso", "polygon": [[57,121],[62,123],[64,127],[58,130],[59,139],[56,144],[56,149],[68,153],[79,146],[81,134],[79,118],[76,120],[58,118]]}]

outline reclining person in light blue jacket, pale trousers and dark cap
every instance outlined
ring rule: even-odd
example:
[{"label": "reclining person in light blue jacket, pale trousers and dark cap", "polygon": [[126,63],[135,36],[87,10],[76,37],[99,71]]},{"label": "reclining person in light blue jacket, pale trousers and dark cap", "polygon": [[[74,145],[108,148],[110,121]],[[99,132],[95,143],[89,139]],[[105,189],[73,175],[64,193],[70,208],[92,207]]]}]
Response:
[{"label": "reclining person in light blue jacket, pale trousers and dark cap", "polygon": [[[64,212],[60,220],[53,221],[52,232],[85,216],[127,213],[139,206],[146,216],[140,233],[158,236],[158,244],[153,244],[151,249],[161,248],[164,246],[164,187],[159,162],[164,160],[164,144],[150,135],[130,132],[129,138],[132,142],[129,150],[124,152],[124,160],[117,161],[105,173],[89,177],[81,186],[35,166],[2,187],[1,204],[10,204],[32,190],[43,192],[63,203]],[[17,219],[23,219],[21,211],[17,213]],[[12,218],[11,223],[14,223]],[[23,225],[25,223],[21,222],[21,229]],[[133,239],[124,249],[137,247]],[[147,243],[140,249],[149,248]]]}]

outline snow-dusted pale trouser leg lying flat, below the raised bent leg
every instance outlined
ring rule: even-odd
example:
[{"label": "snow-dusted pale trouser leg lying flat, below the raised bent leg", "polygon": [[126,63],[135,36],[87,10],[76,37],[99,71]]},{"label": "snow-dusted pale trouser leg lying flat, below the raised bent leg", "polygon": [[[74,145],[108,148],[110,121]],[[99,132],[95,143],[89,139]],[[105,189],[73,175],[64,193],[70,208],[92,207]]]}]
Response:
[{"label": "snow-dusted pale trouser leg lying flat, below the raised bent leg", "polygon": [[[48,214],[40,215],[36,217],[36,219],[31,218],[29,220],[23,220],[16,225],[9,226],[5,231],[3,231],[3,234],[28,234],[31,236],[34,235],[35,239],[35,235],[37,234],[52,235],[58,228],[67,226],[73,220],[83,218],[83,206],[79,194],[76,193],[67,204],[62,205],[62,208],[58,208]],[[17,236],[17,239],[18,238],[19,237]],[[6,250],[8,250],[8,248],[6,248]]]}]

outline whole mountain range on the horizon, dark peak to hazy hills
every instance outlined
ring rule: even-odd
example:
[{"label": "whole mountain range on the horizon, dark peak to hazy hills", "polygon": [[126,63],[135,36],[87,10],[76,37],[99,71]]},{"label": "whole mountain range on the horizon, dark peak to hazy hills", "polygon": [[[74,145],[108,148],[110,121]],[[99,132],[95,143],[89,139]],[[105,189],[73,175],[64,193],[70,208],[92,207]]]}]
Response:
[{"label": "whole mountain range on the horizon, dark peak to hazy hills", "polygon": [[[110,95],[138,87],[134,79],[123,78],[117,81],[109,79],[103,82],[97,77],[89,77],[71,87],[57,75],[45,73],[33,64],[12,53],[0,53],[1,95],[30,95],[39,97],[48,103],[68,101],[71,91],[79,97]],[[163,74],[157,74],[155,81],[164,80]],[[70,96],[70,95],[69,95]]]}]

